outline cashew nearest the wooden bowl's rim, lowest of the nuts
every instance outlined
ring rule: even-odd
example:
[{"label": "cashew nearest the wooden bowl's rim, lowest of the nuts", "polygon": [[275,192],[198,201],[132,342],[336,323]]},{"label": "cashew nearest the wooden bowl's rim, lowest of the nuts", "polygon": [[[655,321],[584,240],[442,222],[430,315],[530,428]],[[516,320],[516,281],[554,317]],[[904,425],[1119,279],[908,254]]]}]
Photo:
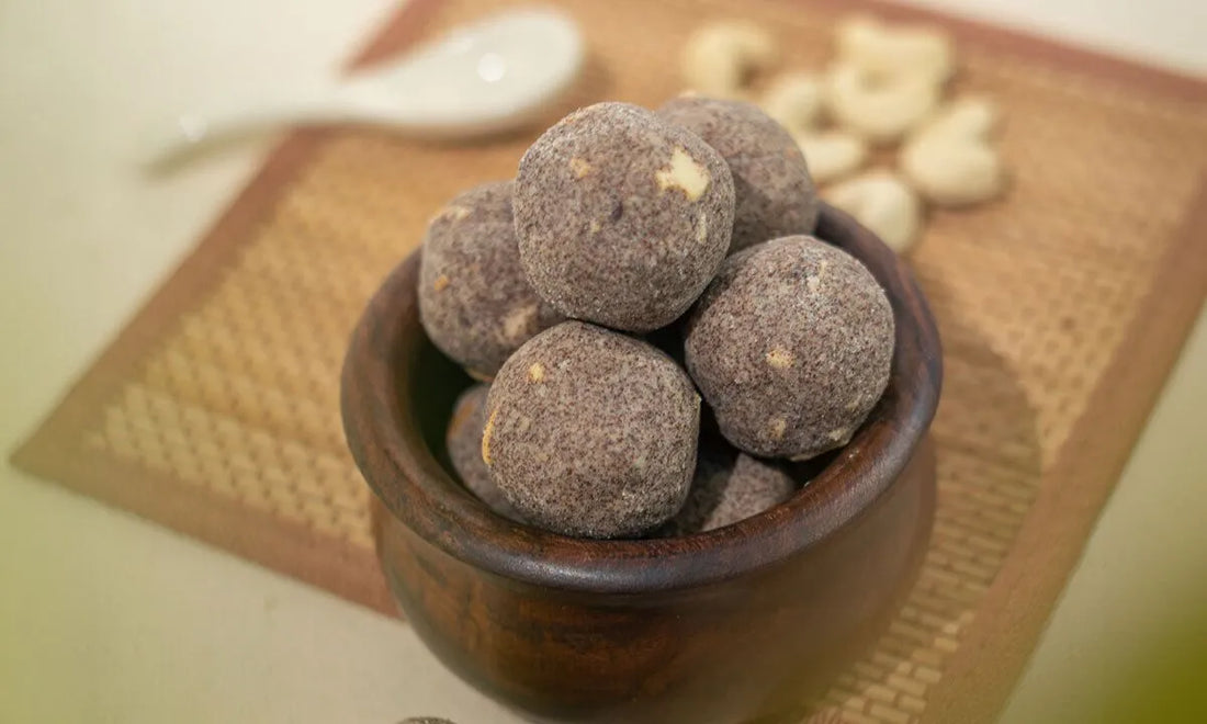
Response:
[{"label": "cashew nearest the wooden bowl's rim, lowest of the nuts", "polygon": [[822,197],[846,211],[897,253],[914,243],[922,222],[922,205],[904,181],[875,170],[830,187]]}]

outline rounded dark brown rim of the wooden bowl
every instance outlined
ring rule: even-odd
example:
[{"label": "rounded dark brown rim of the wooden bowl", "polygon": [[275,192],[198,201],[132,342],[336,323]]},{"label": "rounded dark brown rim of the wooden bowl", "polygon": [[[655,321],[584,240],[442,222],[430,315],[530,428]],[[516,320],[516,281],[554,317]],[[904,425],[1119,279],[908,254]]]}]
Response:
[{"label": "rounded dark brown rim of the wooden bowl", "polygon": [[[934,317],[906,264],[870,230],[823,204],[815,237],[871,272],[893,309],[888,387],[851,442],[800,492],[736,524],[690,536],[585,539],[507,520],[468,494],[424,442],[408,403],[422,341],[419,250],[369,300],[352,333],[340,411],[357,467],[385,509],[421,539],[476,568],[593,594],[695,588],[760,570],[844,529],[887,491],[938,407],[943,354]],[[403,341],[408,344],[402,344]]]}]

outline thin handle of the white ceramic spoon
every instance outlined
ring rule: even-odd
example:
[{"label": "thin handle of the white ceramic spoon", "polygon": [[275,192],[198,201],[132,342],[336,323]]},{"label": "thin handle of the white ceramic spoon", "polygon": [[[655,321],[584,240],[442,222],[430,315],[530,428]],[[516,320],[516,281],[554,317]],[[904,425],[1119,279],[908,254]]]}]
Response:
[{"label": "thin handle of the white ceramic spoon", "polygon": [[281,125],[398,123],[400,104],[350,87],[296,91],[255,103],[183,113],[150,142],[148,163],[168,164],[202,148]]}]

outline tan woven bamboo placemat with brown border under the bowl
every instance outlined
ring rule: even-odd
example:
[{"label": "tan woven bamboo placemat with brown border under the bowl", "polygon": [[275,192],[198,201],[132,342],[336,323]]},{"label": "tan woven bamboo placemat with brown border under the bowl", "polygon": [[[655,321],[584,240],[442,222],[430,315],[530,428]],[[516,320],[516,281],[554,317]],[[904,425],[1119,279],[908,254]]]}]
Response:
[{"label": "tan woven bamboo placemat with brown border under the bowl", "polygon": [[[360,62],[506,4],[414,0]],[[709,17],[763,22],[810,68],[852,7],[935,17],[836,0],[564,5],[591,48],[570,105],[659,104]],[[897,620],[812,712],[824,720],[999,710],[1207,292],[1207,84],[941,19],[960,39],[956,89],[1007,110],[1014,186],[932,214],[910,252],[946,355],[934,536]],[[428,216],[512,175],[533,134],[295,134],[16,463],[392,613],[340,432],[345,341]]]}]

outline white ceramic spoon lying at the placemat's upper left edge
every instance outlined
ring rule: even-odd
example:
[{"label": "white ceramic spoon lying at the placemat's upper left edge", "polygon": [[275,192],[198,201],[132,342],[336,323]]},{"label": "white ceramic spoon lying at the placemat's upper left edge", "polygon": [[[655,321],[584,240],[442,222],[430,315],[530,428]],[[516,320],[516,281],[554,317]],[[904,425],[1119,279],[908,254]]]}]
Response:
[{"label": "white ceramic spoon lying at the placemat's upper left edge", "polygon": [[507,11],[363,72],[274,89],[253,105],[182,115],[154,144],[151,160],[275,125],[355,123],[425,138],[496,133],[555,101],[578,76],[584,56],[578,27],[565,13]]}]

